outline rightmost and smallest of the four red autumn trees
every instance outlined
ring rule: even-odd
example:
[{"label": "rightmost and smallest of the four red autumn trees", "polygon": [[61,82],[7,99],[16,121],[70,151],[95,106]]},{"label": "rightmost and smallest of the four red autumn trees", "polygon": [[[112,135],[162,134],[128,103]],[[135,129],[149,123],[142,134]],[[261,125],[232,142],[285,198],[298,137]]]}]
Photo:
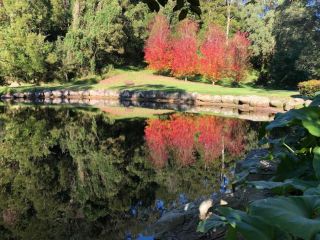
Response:
[{"label": "rightmost and smallest of the four red autumn trees", "polygon": [[239,83],[245,76],[248,69],[249,46],[245,33],[237,32],[228,45],[228,73]]}]

